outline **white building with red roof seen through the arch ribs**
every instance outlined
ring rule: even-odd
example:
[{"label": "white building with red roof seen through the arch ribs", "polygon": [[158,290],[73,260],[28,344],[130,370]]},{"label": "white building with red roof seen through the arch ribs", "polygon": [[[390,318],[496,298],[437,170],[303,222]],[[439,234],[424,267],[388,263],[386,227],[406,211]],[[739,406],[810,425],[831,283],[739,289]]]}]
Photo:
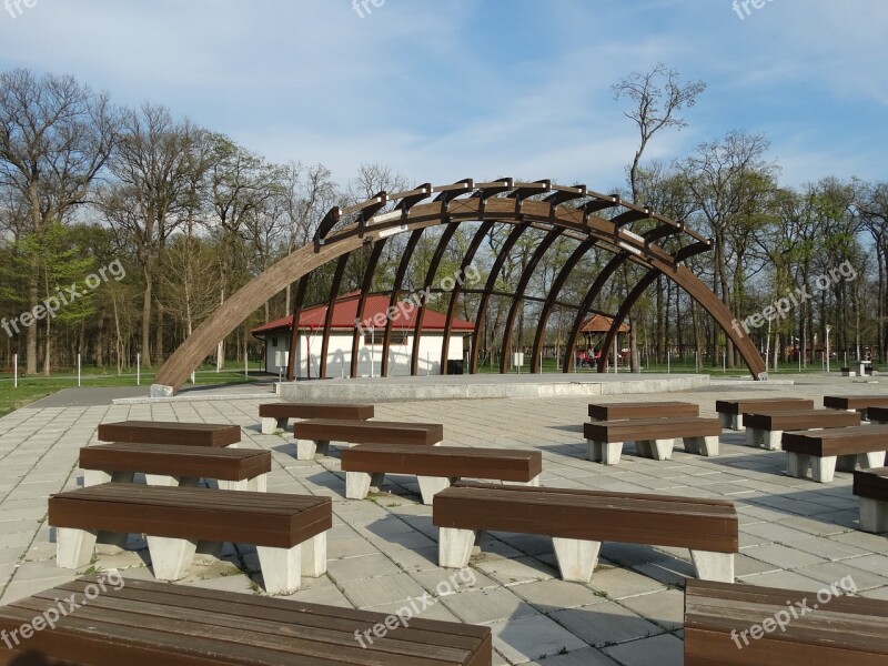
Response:
[{"label": "white building with red roof seen through the arch ribs", "polygon": [[[326,354],[326,376],[350,376],[352,344],[357,332],[357,374],[379,376],[383,363],[389,376],[410,375],[416,317],[420,309],[416,297],[405,299],[390,307],[387,294],[371,294],[364,301],[363,316],[359,320],[360,292],[336,299],[330,325],[330,343]],[[327,304],[305,307],[299,317],[295,370],[297,377],[317,377],[321,371],[321,347],[327,319]],[[391,319],[391,341],[387,359],[383,359],[385,329]],[[441,353],[447,316],[428,307],[423,314],[420,336],[418,373],[441,374]],[[290,334],[293,315],[269,322],[252,330],[252,334],[264,342],[265,371],[286,373],[290,354]],[[465,337],[475,331],[475,325],[454,317],[450,329],[447,361],[451,373],[461,372],[461,364],[468,345]]]}]

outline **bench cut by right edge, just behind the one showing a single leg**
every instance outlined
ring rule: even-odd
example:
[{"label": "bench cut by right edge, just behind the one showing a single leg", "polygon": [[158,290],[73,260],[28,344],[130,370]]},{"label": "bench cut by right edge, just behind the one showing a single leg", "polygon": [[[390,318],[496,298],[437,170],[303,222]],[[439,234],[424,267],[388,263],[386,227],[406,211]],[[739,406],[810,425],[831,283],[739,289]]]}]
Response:
[{"label": "bench cut by right edge, just behind the one showing a single leg", "polygon": [[786,473],[820,483],[833,481],[836,470],[854,472],[855,465],[881,467],[888,448],[888,425],[840,427],[825,431],[784,433]]}]

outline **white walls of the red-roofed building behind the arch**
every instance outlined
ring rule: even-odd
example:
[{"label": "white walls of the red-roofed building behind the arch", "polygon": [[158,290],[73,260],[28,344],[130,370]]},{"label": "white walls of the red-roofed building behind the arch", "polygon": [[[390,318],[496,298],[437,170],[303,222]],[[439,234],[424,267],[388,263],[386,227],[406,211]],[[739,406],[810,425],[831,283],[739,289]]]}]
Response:
[{"label": "white walls of the red-roofed building behind the arch", "polygon": [[[410,360],[413,351],[414,337],[411,333],[404,344],[393,342],[389,350],[386,365],[389,376],[408,376]],[[444,341],[443,332],[430,331],[423,333],[420,340],[420,355],[417,359],[417,373],[421,375],[441,374],[441,349]],[[276,342],[276,344],[275,344]],[[380,376],[382,367],[383,333],[380,332],[376,344],[365,343],[363,336],[357,347],[357,375],[362,377]],[[321,345],[323,333],[315,331],[313,334],[301,332],[296,345],[296,376],[317,377],[321,371]],[[462,334],[451,335],[447,347],[447,359],[463,360],[464,345]],[[286,374],[286,353],[290,350],[290,333],[281,332],[265,336],[265,370],[272,373]],[[306,359],[311,357],[311,369]],[[280,367],[278,365],[280,363]],[[352,364],[352,333],[334,331],[330,335],[327,350],[326,376],[347,377]],[[372,365],[372,367],[371,367]],[[310,374],[311,373],[311,374]]]}]

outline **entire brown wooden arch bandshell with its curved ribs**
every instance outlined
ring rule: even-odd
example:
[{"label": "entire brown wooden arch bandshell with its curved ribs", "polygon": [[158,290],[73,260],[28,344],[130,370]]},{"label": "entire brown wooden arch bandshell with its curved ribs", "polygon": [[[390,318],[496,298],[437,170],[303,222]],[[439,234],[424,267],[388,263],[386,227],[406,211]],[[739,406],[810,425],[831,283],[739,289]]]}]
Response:
[{"label": "entire brown wooden arch bandshell with its curved ribs", "polygon": [[[568,204],[569,205],[566,205]],[[628,225],[650,221],[648,231],[637,234],[627,229]],[[734,342],[740,356],[745,361],[754,379],[767,379],[765,363],[755,345],[748,337],[739,332],[737,326],[731,326],[733,316],[727,306],[697,279],[685,265],[685,260],[695,254],[709,251],[712,242],[704,239],[684,224],[657,214],[647,208],[640,208],[629,202],[622,201],[616,195],[599,194],[586,190],[584,185],[564,186],[548,180],[535,182],[515,182],[513,179],[500,179],[493,182],[475,183],[467,179],[450,185],[433,186],[425,183],[406,192],[389,194],[380,192],[376,196],[340,209],[334,206],[321,222],[314,242],[294,251],[276,264],[271,266],[252,282],[242,287],[204,321],[184,343],[168,359],[157,375],[157,384],[152,386],[152,394],[163,395],[178,391],[191,371],[213,352],[220,340],[223,340],[250,314],[262,306],[271,296],[283,291],[289,284],[297,282],[294,303],[294,322],[299,321],[305,299],[307,280],[312,271],[329,262],[335,262],[333,279],[331,281],[329,303],[339,295],[342,278],[350,253],[364,245],[371,245],[372,252],[367,262],[363,289],[357,303],[357,317],[363,319],[365,299],[373,284],[373,275],[382,250],[393,235],[410,234],[402,260],[394,275],[391,290],[391,304],[395,305],[410,261],[423,232],[433,226],[443,226],[437,246],[432,255],[428,270],[424,275],[421,286],[431,286],[435,279],[438,264],[460,224],[480,223],[475,235],[470,242],[462,261],[462,271],[465,272],[474,260],[484,238],[496,223],[512,225],[512,232],[506,238],[503,246],[494,258],[491,278],[482,290],[466,287],[456,282],[450,292],[447,309],[447,324],[444,330],[442,350],[442,372],[446,372],[448,342],[451,336],[450,325],[456,312],[461,294],[477,293],[481,295],[477,314],[475,317],[475,332],[471,344],[471,362],[468,371],[477,372],[478,351],[482,326],[485,314],[493,296],[512,299],[512,304],[506,317],[503,349],[511,349],[512,330],[523,301],[531,300],[525,295],[526,287],[546,251],[559,238],[578,241],[576,249],[567,256],[563,266],[556,274],[552,287],[545,299],[536,299],[542,303],[541,316],[536,327],[533,343],[532,372],[539,372],[539,351],[543,346],[544,335],[548,319],[556,305],[569,305],[576,310],[576,319],[565,346],[573,350],[583,321],[592,312],[595,299],[602,292],[607,281],[626,262],[638,264],[647,270],[642,280],[630,291],[616,314],[602,313],[610,316],[613,327],[605,336],[602,354],[602,364],[598,372],[604,371],[606,352],[613,343],[614,336],[628,314],[629,310],[658,275],[665,275],[684,289],[695,299],[725,331]],[[508,254],[518,240],[528,230],[541,230],[545,234],[534,249],[529,261],[516,284],[513,293],[497,292],[496,276]],[[666,238],[678,240],[678,250],[667,252],[658,242]],[[602,248],[613,253],[610,261],[602,269],[586,292],[579,304],[565,304],[558,301],[558,295],[564,287],[571,272],[577,266],[583,256],[593,248]],[[597,312],[597,311],[596,311]],[[327,325],[321,351],[321,373],[325,375],[327,349],[330,342],[330,317],[333,307],[327,307]],[[422,335],[423,321],[422,306],[417,310],[414,329],[413,354],[411,359],[411,374],[417,371],[418,337]],[[355,327],[352,342],[352,376],[356,373],[357,346],[360,330]],[[291,359],[294,356],[295,335],[291,336]],[[383,359],[389,357],[392,340],[392,322],[385,329],[383,339]],[[506,359],[503,355],[501,372],[506,371]],[[568,372],[574,362],[573,353],[566,353],[563,371]],[[293,379],[292,376],[290,377]]]}]

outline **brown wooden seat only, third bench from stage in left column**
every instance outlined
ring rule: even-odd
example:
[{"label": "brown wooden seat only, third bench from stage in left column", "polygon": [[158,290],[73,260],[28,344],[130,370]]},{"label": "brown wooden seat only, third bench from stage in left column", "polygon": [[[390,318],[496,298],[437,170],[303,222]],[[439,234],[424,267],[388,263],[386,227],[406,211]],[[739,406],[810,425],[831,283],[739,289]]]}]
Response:
[{"label": "brown wooden seat only, third bench from stage in left column", "polygon": [[56,527],[292,547],[332,526],[332,500],[282,493],[103,484],[49,498]]}]

